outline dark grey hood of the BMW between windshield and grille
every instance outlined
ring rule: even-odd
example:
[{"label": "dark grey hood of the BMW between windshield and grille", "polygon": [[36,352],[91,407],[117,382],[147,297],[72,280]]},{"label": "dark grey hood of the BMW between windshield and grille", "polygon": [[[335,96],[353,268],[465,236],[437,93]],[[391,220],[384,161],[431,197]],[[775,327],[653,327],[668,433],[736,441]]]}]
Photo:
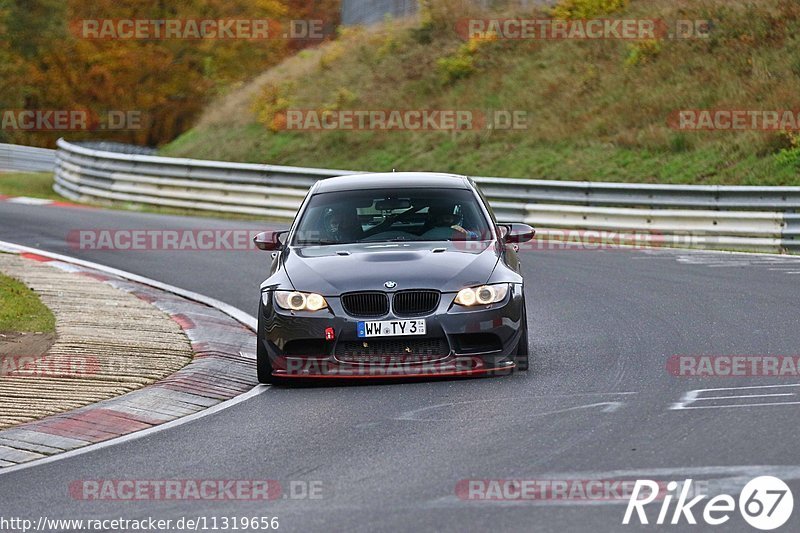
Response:
[{"label": "dark grey hood of the BMW between windshield and grille", "polygon": [[283,266],[295,289],[336,296],[386,290],[387,281],[454,292],[486,283],[498,259],[494,241],[363,243],[290,247]]}]

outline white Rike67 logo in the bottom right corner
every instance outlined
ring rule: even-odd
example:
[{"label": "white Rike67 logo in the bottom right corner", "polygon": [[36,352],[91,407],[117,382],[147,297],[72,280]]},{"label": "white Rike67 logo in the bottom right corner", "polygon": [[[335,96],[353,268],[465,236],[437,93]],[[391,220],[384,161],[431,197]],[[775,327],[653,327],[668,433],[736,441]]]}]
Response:
[{"label": "white Rike67 logo in the bottom right corner", "polygon": [[[731,514],[736,510],[737,501],[729,494],[714,496],[706,501],[705,505],[700,502],[708,498],[707,495],[700,494],[689,499],[692,491],[691,479],[687,479],[682,485],[670,481],[667,484],[667,494],[662,498],[659,498],[659,486],[663,487],[663,484],[651,480],[636,481],[625,509],[623,524],[631,523],[634,512],[640,524],[680,524],[684,520],[688,524],[697,524],[695,517],[697,513],[706,524],[718,526],[730,520]],[[677,500],[670,517],[670,506],[676,496]],[[645,506],[657,499],[661,503],[658,517],[655,522],[650,522],[652,515],[648,519]],[[789,486],[780,479],[760,476],[750,480],[739,493],[738,507],[739,513],[748,524],[756,529],[768,531],[782,526],[789,520],[794,508],[794,498]],[[633,523],[636,524],[636,521]]]}]

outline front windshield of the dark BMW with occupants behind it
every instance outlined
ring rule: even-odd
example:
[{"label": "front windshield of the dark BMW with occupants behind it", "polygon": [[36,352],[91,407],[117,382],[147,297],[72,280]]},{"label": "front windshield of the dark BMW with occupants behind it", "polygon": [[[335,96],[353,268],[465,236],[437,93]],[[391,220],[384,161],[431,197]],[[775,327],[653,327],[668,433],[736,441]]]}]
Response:
[{"label": "front windshield of the dark BMW with occupants behind it", "polygon": [[457,241],[491,238],[486,216],[466,189],[366,190],[316,194],[292,244]]}]

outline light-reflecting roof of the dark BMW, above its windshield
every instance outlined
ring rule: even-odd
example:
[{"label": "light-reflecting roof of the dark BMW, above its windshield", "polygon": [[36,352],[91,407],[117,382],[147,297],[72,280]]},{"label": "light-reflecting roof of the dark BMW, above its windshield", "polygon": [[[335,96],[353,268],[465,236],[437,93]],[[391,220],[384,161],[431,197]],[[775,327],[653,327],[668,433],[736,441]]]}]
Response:
[{"label": "light-reflecting roof of the dark BMW, above its windshield", "polygon": [[437,172],[382,172],[376,174],[351,174],[319,180],[314,193],[356,191],[364,189],[469,189],[464,176]]}]

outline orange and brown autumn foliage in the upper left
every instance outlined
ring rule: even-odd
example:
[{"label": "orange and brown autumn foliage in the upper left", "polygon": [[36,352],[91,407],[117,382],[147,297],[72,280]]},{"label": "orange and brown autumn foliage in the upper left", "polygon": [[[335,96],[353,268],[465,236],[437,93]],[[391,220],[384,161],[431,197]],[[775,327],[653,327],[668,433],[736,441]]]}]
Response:
[{"label": "orange and brown autumn foliage in the upper left", "polygon": [[[0,141],[53,145],[58,137],[165,143],[191,127],[205,104],[318,41],[267,39],[87,39],[83,20],[338,20],[339,1],[0,0],[0,110],[134,111],[124,131],[24,132]],[[270,28],[273,26],[270,25]]]}]

